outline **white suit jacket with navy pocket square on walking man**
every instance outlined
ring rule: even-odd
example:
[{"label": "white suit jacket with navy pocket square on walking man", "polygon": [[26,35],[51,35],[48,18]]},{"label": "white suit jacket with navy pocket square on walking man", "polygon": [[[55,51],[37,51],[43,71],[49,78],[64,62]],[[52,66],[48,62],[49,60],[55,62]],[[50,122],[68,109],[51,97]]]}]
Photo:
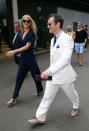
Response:
[{"label": "white suit jacket with navy pocket square on walking man", "polygon": [[50,47],[50,71],[52,72],[53,84],[65,84],[76,80],[77,74],[71,66],[71,57],[74,42],[71,36],[62,32],[53,46],[54,38],[51,39]]}]

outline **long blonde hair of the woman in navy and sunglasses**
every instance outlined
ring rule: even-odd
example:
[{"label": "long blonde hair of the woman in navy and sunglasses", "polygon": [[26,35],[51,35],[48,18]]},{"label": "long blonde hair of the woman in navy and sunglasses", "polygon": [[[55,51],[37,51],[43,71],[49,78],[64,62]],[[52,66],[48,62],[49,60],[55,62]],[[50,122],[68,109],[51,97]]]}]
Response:
[{"label": "long blonde hair of the woman in navy and sunglasses", "polygon": [[24,31],[24,27],[23,27],[24,17],[27,17],[29,20],[31,20],[31,26],[30,26],[29,28],[32,29],[32,30],[36,33],[36,32],[37,32],[36,24],[35,24],[34,20],[31,18],[31,16],[30,16],[30,15],[27,15],[27,14],[25,14],[25,15],[22,17],[22,20],[21,20],[21,29],[22,29],[22,31]]}]

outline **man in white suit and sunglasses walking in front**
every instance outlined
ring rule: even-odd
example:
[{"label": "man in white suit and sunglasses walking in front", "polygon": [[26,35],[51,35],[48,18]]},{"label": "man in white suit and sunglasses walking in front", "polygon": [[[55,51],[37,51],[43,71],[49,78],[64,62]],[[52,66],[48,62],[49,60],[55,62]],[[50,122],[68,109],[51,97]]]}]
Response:
[{"label": "man in white suit and sunglasses walking in front", "polygon": [[50,67],[41,74],[41,77],[47,79],[52,75],[52,81],[46,82],[44,97],[37,109],[36,118],[28,120],[31,124],[45,123],[47,111],[60,87],[72,102],[71,116],[76,116],[79,111],[79,97],[73,83],[77,75],[71,66],[74,42],[71,36],[63,32],[63,21],[58,14],[51,14],[48,18],[47,27],[54,37],[51,39]]}]

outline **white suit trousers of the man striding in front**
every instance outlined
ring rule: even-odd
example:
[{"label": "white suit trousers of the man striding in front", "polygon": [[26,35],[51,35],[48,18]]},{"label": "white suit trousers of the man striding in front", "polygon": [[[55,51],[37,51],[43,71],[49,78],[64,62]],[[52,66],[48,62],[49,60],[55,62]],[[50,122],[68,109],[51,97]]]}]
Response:
[{"label": "white suit trousers of the man striding in front", "polygon": [[56,93],[60,88],[64,90],[69,100],[72,102],[73,108],[74,109],[79,108],[79,96],[75,90],[73,82],[59,85],[52,84],[51,81],[47,81],[43,99],[36,112],[36,118],[38,120],[40,121],[46,120],[47,111],[49,110],[51,103],[53,102]]}]

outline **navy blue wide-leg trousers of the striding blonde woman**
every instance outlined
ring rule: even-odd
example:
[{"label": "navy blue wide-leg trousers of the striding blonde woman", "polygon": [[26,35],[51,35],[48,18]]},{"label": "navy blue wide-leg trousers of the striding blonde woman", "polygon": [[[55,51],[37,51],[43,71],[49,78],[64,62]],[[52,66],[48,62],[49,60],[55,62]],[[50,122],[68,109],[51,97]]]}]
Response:
[{"label": "navy blue wide-leg trousers of the striding blonde woman", "polygon": [[38,67],[38,64],[36,62],[35,56],[28,56],[28,57],[23,57],[21,58],[19,67],[18,67],[18,72],[17,72],[17,77],[16,77],[16,84],[15,84],[15,89],[13,93],[12,98],[16,98],[19,95],[22,83],[24,79],[26,78],[26,75],[28,71],[31,72],[31,75],[33,77],[33,80],[36,84],[36,90],[37,93],[40,93],[43,91],[43,87],[40,81],[35,81],[35,75],[40,75],[40,69]]}]

